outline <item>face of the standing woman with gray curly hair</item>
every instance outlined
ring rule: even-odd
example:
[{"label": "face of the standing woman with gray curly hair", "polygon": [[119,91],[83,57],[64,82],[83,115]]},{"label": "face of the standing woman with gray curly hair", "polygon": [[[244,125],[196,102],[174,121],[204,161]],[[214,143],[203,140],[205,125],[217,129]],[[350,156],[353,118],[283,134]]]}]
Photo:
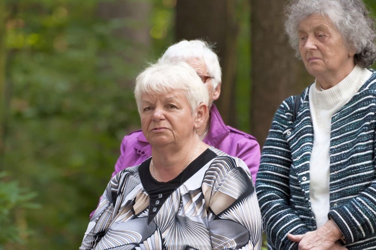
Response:
[{"label": "face of the standing woman with gray curly hair", "polygon": [[355,52],[347,49],[340,33],[322,16],[309,16],[299,24],[298,32],[300,55],[315,78],[343,79],[354,68]]}]

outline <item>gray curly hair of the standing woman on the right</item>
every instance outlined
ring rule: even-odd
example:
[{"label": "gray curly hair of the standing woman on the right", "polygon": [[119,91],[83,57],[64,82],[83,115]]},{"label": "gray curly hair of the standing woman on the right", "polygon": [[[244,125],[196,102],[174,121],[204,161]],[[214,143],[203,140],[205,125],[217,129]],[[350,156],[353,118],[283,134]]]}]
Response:
[{"label": "gray curly hair of the standing woman on the right", "polygon": [[362,0],[291,0],[285,6],[285,30],[299,53],[298,26],[312,14],[327,18],[342,35],[348,49],[355,49],[355,63],[369,68],[376,58],[374,20]]}]

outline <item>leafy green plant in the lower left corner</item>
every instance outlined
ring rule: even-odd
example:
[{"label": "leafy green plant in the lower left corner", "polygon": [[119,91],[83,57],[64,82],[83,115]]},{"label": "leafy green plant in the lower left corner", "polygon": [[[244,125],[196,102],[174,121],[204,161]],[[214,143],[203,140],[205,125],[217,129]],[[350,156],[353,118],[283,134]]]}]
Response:
[{"label": "leafy green plant in the lower left corner", "polygon": [[39,205],[32,200],[37,196],[35,192],[21,188],[14,180],[7,180],[6,172],[0,172],[0,249],[10,242],[23,242],[22,234],[24,229],[16,221],[22,220],[25,209],[39,208]]}]

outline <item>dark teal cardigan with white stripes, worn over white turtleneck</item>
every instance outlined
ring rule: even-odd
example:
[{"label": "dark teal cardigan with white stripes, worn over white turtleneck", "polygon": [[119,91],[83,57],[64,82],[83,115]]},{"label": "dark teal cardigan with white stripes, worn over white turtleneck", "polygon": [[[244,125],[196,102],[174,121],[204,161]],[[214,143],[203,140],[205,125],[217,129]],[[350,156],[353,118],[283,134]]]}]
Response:
[{"label": "dark teal cardigan with white stripes, worn over white turtleneck", "polygon": [[[376,72],[333,114],[330,134],[330,212],[348,249],[376,249]],[[309,87],[292,122],[293,97],[278,108],[262,150],[256,191],[269,249],[298,249],[287,233],[316,230],[310,205],[313,146]],[[342,242],[343,243],[343,242]]]}]

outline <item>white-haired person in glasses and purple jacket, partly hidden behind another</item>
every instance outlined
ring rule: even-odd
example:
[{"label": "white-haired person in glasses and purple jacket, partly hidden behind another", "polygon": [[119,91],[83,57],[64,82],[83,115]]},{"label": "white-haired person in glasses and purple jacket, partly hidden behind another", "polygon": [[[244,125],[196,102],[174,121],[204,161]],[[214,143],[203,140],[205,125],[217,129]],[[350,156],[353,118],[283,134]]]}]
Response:
[{"label": "white-haired person in glasses and purple jacket, partly hidden behind another", "polygon": [[[203,125],[199,128],[200,139],[210,146],[242,159],[248,166],[255,183],[259,169],[261,150],[256,138],[243,131],[227,126],[213,104],[221,94],[221,67],[212,46],[201,40],[182,40],[171,45],[158,62],[183,61],[199,75],[209,91],[209,108]],[[135,166],[151,156],[151,146],[141,130],[123,138],[120,156],[115,164],[114,176],[124,168]],[[94,211],[90,214],[90,217]]]}]

